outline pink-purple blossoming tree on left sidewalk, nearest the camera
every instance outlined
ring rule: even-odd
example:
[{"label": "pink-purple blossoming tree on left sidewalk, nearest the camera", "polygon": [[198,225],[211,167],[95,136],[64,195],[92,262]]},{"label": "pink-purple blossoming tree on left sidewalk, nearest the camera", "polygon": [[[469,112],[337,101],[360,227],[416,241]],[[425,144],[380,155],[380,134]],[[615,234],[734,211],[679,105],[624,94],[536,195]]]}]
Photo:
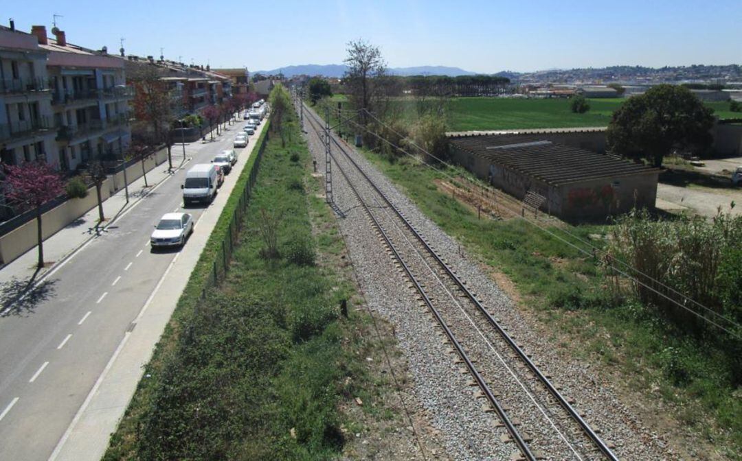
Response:
[{"label": "pink-purple blossoming tree on left sidewalk, nearest the camera", "polygon": [[36,236],[39,247],[38,268],[44,267],[42,205],[65,190],[62,176],[42,161],[5,166],[4,193],[9,202],[22,210],[36,210]]}]

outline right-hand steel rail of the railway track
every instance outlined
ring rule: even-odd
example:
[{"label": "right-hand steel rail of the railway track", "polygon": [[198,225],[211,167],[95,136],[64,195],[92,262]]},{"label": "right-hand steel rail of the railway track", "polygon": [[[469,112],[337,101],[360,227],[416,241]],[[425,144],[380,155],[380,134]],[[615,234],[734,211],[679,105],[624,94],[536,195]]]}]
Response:
[{"label": "right-hand steel rail of the railway track", "polygon": [[[316,115],[309,110],[307,110],[307,113],[309,113],[313,118],[316,119]],[[352,163],[352,165],[355,166],[356,169],[358,169],[358,172],[361,173],[361,176],[364,176],[364,178],[369,182],[369,184],[376,190],[376,192],[384,199],[384,202],[387,202],[387,205],[389,205],[389,208],[392,209],[397,216],[404,222],[404,225],[407,226],[408,229],[413,233],[414,236],[422,243],[424,248],[433,256],[434,259],[436,259],[436,262],[441,265],[441,267],[446,271],[448,276],[451,277],[456,282],[456,285],[461,288],[461,290],[464,292],[464,294],[469,298],[474,305],[476,305],[476,308],[479,310],[479,312],[485,316],[487,319],[487,322],[490,323],[490,325],[493,326],[493,328],[496,329],[496,331],[502,336],[503,339],[505,339],[505,342],[508,343],[510,348],[515,351],[515,353],[519,356],[519,359],[521,359],[525,364],[528,366],[528,368],[531,370],[531,372],[539,379],[539,381],[547,388],[549,393],[551,394],[554,399],[559,402],[559,405],[562,406],[562,408],[567,411],[569,416],[574,419],[579,425],[580,428],[582,428],[582,431],[585,432],[585,434],[594,442],[595,445],[600,449],[600,451],[611,461],[619,461],[618,457],[611,451],[611,448],[608,447],[608,445],[603,442],[603,440],[595,433],[595,431],[588,425],[587,422],[585,422],[585,419],[582,419],[580,417],[580,414],[570,405],[570,403],[565,399],[561,393],[557,390],[557,388],[551,383],[551,381],[545,376],[545,374],[542,373],[542,371],[539,370],[539,368],[536,366],[533,361],[531,361],[530,358],[528,358],[528,355],[525,354],[525,352],[516,344],[516,342],[513,340],[512,337],[505,331],[504,328],[502,328],[502,325],[499,324],[499,322],[496,321],[496,319],[493,318],[493,316],[485,309],[485,307],[482,305],[481,302],[479,302],[479,299],[476,299],[476,296],[469,291],[469,289],[464,285],[464,282],[462,282],[461,279],[459,279],[459,276],[456,276],[455,273],[448,267],[448,265],[443,262],[443,260],[438,256],[438,254],[433,251],[433,248],[430,248],[430,245],[425,242],[425,239],[421,236],[420,233],[413,227],[413,225],[407,220],[407,218],[393,205],[392,202],[387,198],[386,194],[381,191],[381,189],[378,188],[377,185],[370,179],[370,177],[366,174],[366,172],[358,165],[357,162],[355,162],[354,159],[352,159],[351,156],[347,153],[347,151],[344,149],[344,147],[338,142],[337,139],[335,139],[335,136],[331,133],[330,138],[332,139],[332,142],[335,143],[335,145],[338,146],[338,148],[341,150],[342,153],[347,156],[347,159],[349,162]],[[337,162],[335,162],[337,164]],[[339,167],[339,165],[338,165]]]}]

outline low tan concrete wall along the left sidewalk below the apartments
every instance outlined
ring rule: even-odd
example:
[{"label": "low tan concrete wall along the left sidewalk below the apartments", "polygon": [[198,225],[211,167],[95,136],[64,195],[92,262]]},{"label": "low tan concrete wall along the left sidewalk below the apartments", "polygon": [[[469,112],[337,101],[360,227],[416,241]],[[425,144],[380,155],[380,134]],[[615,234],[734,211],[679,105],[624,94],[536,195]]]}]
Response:
[{"label": "low tan concrete wall along the left sidewalk below the apartments", "polygon": [[[163,149],[157,152],[151,159],[145,161],[145,168],[150,171],[161,165],[168,159],[167,150]],[[137,162],[126,169],[128,182],[134,182],[142,176],[142,165]],[[124,187],[124,175],[122,172],[114,176],[108,176],[108,179],[102,185],[102,199],[108,199],[112,193]],[[42,216],[42,235],[44,239],[53,236],[62,228],[70,225],[76,219],[88,213],[98,205],[95,188],[88,190],[88,196],[83,199],[70,199],[52,210],[47,211]],[[33,219],[15,230],[11,230],[4,236],[0,237],[0,262],[7,264],[26,251],[36,247],[36,219]]]}]

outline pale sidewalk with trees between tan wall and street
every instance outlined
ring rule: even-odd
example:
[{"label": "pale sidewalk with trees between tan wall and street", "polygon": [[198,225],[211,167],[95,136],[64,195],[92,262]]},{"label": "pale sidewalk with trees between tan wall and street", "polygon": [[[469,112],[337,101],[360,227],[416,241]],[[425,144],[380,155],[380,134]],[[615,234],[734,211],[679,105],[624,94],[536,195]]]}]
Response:
[{"label": "pale sidewalk with trees between tan wall and street", "polygon": [[[199,140],[186,143],[186,159],[191,158],[203,145],[209,144],[209,136],[210,134],[206,133],[206,142]],[[216,139],[216,137],[217,135],[214,133],[214,138]],[[171,155],[174,172],[185,161],[183,159],[182,145],[174,145],[171,148]],[[168,172],[168,166],[168,161],[165,160],[165,162],[162,162],[147,172],[146,178],[149,187],[145,188],[144,176],[131,182],[128,186],[128,203],[126,202],[124,188],[106,199],[103,202],[103,216],[105,216],[106,220],[100,226],[97,226],[99,216],[98,207],[95,206],[88,213],[71,222],[67,227],[48,237],[44,241],[44,260],[47,262],[45,268],[36,268],[39,258],[39,248],[36,246],[7,265],[4,265],[0,269],[0,316],[8,310],[16,299],[19,299],[30,288],[42,282],[46,276],[64,264],[65,259],[79,248],[82,248],[83,245],[95,239],[96,236],[105,233],[106,228],[114,224],[122,213],[125,213],[126,210],[147,196],[151,190],[157,188],[157,185],[160,185],[162,181],[170,177],[172,173]]]}]

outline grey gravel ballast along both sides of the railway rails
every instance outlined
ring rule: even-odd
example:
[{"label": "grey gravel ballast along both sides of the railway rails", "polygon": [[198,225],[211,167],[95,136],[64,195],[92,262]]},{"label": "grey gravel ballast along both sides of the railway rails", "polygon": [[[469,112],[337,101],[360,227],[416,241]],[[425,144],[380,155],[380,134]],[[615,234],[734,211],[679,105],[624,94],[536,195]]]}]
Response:
[{"label": "grey gravel ballast along both sides of the railway rails", "polygon": [[[324,165],[324,145],[312,129],[306,113],[305,127],[312,155],[318,165]],[[341,155],[335,146],[332,149],[336,156]],[[355,153],[352,148],[348,147],[347,150],[395,207],[404,213],[406,219],[456,271],[459,278],[467,282],[467,287],[476,293],[487,310],[516,337],[519,346],[531,354],[540,370],[551,376],[562,395],[574,399],[574,408],[584,415],[592,428],[600,430],[600,437],[612,444],[617,457],[625,460],[673,457],[666,450],[663,441],[647,428],[643,428],[631,411],[618,401],[603,378],[593,376],[588,368],[578,362],[557,356],[554,345],[533,333],[535,328],[519,315],[508,296],[476,263],[470,262],[460,253],[459,245],[453,239],[430,222],[363,156]],[[342,166],[350,174],[347,162]],[[355,185],[361,182],[360,175],[352,177]],[[372,228],[363,208],[358,206],[357,199],[339,171],[333,171],[333,191],[335,203],[344,213],[344,218],[338,221],[348,251],[355,262],[358,282],[366,293],[370,307],[395,326],[399,347],[410,364],[414,393],[432,424],[441,431],[441,442],[448,454],[456,460],[508,459],[516,451],[516,445],[501,441],[507,431],[497,425],[499,419],[496,414],[482,411],[484,400],[477,399],[474,395],[478,388],[467,384],[469,377],[462,374],[459,365],[456,365],[457,357],[450,354],[450,347],[442,341],[435,320],[418,301],[407,276],[400,272],[387,253],[385,245]],[[387,231],[393,233],[392,229],[387,228]],[[480,356],[487,354],[487,351],[474,352],[478,352]],[[495,366],[496,360],[491,357],[490,360],[490,366]],[[531,412],[530,409],[528,411]],[[537,415],[518,414],[518,417],[526,420]],[[524,421],[524,425],[528,426],[528,423]],[[536,434],[534,440],[539,436],[542,441],[540,446],[545,447],[548,459],[577,459],[576,455],[562,449],[563,447],[557,448],[559,440],[555,440],[553,444],[544,441],[545,434]],[[579,436],[571,437],[580,440]],[[582,437],[582,440],[586,439]],[[585,445],[589,443],[585,442]],[[600,456],[584,458],[600,459]]]}]

